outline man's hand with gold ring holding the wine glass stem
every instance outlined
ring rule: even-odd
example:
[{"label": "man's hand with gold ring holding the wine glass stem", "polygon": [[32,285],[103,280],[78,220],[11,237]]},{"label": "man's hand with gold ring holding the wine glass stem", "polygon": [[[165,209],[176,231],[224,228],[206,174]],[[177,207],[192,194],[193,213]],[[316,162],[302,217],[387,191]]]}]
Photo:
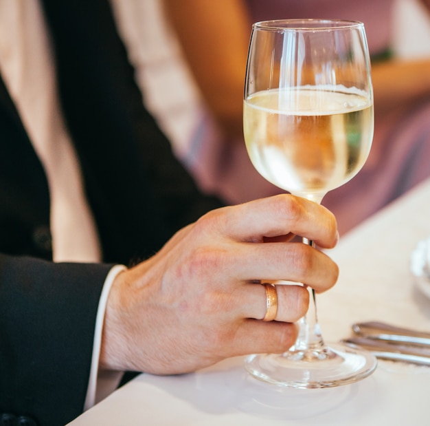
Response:
[{"label": "man's hand with gold ring holding the wine glass stem", "polygon": [[[191,372],[229,356],[280,353],[295,342],[294,322],[308,309],[303,286],[278,285],[275,321],[261,321],[261,283],[284,279],[323,292],[338,268],[315,248],[337,243],[335,217],[293,195],[207,213],[111,288],[101,368],[154,374]],[[144,237],[144,236],[143,236]]]}]

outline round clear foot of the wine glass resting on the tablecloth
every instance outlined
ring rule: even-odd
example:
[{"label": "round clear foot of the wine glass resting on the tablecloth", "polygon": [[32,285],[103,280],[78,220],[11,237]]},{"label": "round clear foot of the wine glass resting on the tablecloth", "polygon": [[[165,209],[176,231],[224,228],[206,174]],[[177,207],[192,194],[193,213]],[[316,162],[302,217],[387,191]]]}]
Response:
[{"label": "round clear foot of the wine glass resting on the tablecloth", "polygon": [[312,389],[364,379],[374,372],[376,363],[370,352],[331,344],[319,350],[249,355],[245,369],[256,379],[273,385]]}]

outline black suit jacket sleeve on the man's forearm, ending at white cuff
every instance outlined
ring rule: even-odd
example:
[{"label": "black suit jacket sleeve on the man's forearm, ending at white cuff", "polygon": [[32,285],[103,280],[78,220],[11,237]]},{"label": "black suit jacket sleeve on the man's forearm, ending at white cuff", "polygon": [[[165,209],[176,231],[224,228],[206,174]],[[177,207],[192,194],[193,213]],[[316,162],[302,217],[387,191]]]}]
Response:
[{"label": "black suit jacket sleeve on the man's forearm, ending at white cuff", "polygon": [[54,426],[82,412],[111,266],[0,254],[0,413]]}]

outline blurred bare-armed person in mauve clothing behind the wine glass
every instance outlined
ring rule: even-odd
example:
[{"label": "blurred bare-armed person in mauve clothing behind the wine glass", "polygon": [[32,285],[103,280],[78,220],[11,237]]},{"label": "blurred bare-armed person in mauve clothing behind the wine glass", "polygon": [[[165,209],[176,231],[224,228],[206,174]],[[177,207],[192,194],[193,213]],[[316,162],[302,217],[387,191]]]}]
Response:
[{"label": "blurred bare-armed person in mauve clothing behind the wine glass", "polygon": [[[422,7],[428,10],[429,3],[422,0]],[[201,149],[200,166],[205,162],[213,173],[212,180],[224,183],[223,190],[230,182],[229,191],[225,191],[230,200],[279,191],[262,182],[249,167],[240,136],[251,23],[267,19],[339,18],[365,23],[372,56],[374,142],[359,174],[323,200],[335,213],[341,233],[430,176],[430,58],[396,57],[394,6],[395,0],[183,0],[180,5],[164,1],[166,19],[222,129],[218,151],[216,143],[207,144],[208,157]]]}]

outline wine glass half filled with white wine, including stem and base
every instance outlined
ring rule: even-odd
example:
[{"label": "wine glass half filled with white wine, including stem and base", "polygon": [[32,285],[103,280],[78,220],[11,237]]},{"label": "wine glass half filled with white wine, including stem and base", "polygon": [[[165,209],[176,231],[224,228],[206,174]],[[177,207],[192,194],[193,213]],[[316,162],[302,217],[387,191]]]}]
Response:
[{"label": "wine glass half filled with white wine, including stem and base", "polygon": [[[356,175],[374,131],[370,58],[356,21],[291,19],[254,23],[245,78],[244,135],[253,166],[269,182],[320,203]],[[304,239],[304,244],[314,246]],[[282,354],[253,354],[245,368],[276,385],[315,388],[371,374],[370,352],[326,345],[315,292],[299,336]]]}]

